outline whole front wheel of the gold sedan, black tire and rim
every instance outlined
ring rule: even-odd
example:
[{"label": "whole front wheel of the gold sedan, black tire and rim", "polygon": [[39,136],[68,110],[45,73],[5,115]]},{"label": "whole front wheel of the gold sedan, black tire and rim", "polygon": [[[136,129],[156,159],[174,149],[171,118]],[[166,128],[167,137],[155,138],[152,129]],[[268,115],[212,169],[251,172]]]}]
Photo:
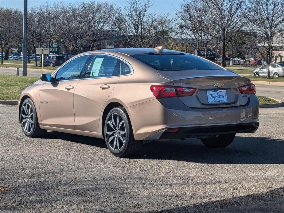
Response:
[{"label": "whole front wheel of the gold sedan, black tire and rim", "polygon": [[32,99],[28,98],[24,100],[19,116],[22,130],[26,136],[40,137],[47,132],[47,130],[43,130],[39,126],[36,107]]}]

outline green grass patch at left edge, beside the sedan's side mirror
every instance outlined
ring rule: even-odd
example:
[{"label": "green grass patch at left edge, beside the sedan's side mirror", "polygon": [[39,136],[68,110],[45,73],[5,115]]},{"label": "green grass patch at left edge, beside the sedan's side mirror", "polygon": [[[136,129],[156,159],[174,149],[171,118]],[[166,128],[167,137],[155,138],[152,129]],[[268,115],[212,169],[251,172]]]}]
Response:
[{"label": "green grass patch at left edge, beside the sedan's side mirror", "polygon": [[21,91],[37,80],[39,78],[0,74],[0,99],[18,100]]}]

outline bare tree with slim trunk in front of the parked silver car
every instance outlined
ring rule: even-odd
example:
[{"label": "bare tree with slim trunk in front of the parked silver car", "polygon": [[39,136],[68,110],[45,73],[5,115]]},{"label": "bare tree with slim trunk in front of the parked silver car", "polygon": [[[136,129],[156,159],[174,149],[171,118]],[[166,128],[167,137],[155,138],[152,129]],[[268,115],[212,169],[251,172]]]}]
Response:
[{"label": "bare tree with slim trunk in front of the parked silver car", "polygon": [[[284,2],[281,0],[247,0],[244,16],[249,23],[247,28],[254,33],[253,48],[260,53],[267,63],[268,78],[270,78],[270,63],[273,61],[273,51],[283,46],[280,44],[281,29],[284,25]],[[282,41],[283,45],[283,41]]]}]

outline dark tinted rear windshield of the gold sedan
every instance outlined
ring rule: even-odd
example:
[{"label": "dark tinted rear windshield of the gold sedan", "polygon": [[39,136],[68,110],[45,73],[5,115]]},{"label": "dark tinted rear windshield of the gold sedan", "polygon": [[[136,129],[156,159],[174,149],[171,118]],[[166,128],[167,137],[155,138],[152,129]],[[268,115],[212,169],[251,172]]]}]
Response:
[{"label": "dark tinted rear windshield of the gold sedan", "polygon": [[135,59],[161,71],[220,70],[217,64],[201,57],[184,53],[145,53],[132,55]]}]

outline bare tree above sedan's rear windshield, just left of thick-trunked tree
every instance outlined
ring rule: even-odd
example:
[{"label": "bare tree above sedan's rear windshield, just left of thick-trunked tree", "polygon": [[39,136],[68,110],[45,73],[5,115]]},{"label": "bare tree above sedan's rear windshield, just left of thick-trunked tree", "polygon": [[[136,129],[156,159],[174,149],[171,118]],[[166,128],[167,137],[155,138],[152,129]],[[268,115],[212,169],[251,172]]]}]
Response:
[{"label": "bare tree above sedan's rear windshield, just left of thick-trunked tree", "polygon": [[[220,41],[216,39],[217,25],[212,21],[208,13],[208,3],[202,0],[184,1],[181,8],[176,11],[181,25],[181,33],[186,37],[193,38],[195,49],[214,51]],[[207,58],[210,54],[204,55]]]}]

